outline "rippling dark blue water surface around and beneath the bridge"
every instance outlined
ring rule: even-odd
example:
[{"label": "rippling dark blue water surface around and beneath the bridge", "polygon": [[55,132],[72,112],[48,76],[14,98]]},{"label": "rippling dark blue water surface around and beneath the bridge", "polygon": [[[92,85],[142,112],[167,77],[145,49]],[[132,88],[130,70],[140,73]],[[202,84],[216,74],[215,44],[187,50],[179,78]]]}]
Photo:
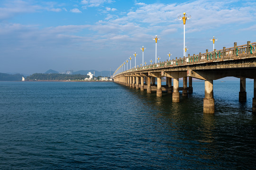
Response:
[{"label": "rippling dark blue water surface around and beneath the bridge", "polygon": [[[180,82],[182,86],[182,82]],[[0,82],[1,170],[256,169],[253,80],[204,82],[172,102],[113,82]]]}]

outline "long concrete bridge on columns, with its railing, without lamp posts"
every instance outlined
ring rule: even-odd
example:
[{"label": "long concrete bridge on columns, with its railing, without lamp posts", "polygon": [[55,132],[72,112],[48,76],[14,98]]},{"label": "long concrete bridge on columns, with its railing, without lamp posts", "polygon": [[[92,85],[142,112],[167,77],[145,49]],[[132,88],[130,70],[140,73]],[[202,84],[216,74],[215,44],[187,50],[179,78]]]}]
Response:
[{"label": "long concrete bridge on columns, with its railing, without lamp posts", "polygon": [[[147,93],[156,91],[157,97],[162,97],[162,91],[167,91],[172,93],[173,102],[180,102],[179,91],[182,91],[183,96],[193,92],[192,78],[204,80],[203,112],[214,113],[213,80],[227,76],[240,78],[239,102],[247,100],[246,78],[254,79],[252,111],[256,113],[256,42],[248,41],[247,44],[239,46],[234,42],[231,48],[223,47],[222,50],[211,52],[206,50],[205,53],[200,52],[192,56],[189,54],[188,57],[122,72],[118,69],[113,79],[116,83],[141,91],[146,90]],[[166,77],[166,85],[162,85],[162,77]],[[183,87],[179,87],[179,78],[183,78]]]}]

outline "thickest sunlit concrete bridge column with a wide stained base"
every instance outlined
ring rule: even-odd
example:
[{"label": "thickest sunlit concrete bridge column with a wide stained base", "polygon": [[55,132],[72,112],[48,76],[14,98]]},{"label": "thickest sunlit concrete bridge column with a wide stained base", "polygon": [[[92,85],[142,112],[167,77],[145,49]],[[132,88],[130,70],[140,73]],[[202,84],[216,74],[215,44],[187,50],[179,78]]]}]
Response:
[{"label": "thickest sunlit concrete bridge column with a wide stained base", "polygon": [[214,113],[213,80],[204,81],[203,112]]}]

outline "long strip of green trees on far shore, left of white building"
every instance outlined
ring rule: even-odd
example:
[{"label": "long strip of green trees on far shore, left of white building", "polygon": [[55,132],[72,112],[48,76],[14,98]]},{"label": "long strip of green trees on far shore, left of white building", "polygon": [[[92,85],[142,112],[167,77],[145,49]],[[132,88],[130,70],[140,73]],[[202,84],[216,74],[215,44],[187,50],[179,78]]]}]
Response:
[{"label": "long strip of green trees on far shore, left of white building", "polygon": [[87,75],[67,75],[67,74],[43,74],[43,73],[35,73],[31,76],[27,76],[26,80],[83,80],[84,78],[89,78]]}]

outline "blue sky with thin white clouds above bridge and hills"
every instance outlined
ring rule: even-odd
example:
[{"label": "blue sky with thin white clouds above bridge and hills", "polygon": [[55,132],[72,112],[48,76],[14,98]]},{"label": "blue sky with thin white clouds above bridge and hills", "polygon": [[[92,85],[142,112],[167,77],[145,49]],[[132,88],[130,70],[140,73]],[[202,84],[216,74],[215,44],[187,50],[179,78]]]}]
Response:
[{"label": "blue sky with thin white clouds above bridge and hills", "polygon": [[[251,0],[0,0],[0,72],[48,69],[115,71],[187,54],[256,42],[256,1]],[[130,62],[128,62],[128,68]],[[127,68],[127,66],[126,66]]]}]

